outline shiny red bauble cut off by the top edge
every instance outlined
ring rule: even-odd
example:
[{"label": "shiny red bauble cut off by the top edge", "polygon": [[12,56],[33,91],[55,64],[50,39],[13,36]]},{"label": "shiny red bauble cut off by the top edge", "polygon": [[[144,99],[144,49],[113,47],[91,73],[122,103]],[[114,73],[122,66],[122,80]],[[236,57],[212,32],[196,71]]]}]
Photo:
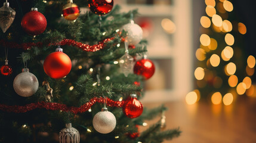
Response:
[{"label": "shiny red bauble cut off by the top edge", "polygon": [[91,12],[97,15],[109,13],[113,8],[113,0],[88,0],[88,7]]}]

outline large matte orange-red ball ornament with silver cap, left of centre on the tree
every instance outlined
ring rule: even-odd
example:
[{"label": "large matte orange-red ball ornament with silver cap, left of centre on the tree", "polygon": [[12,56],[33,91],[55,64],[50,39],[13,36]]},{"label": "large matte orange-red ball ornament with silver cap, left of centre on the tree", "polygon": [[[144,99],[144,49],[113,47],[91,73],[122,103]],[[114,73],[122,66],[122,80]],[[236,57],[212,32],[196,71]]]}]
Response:
[{"label": "large matte orange-red ball ornament with silver cap, left of centre on the tree", "polygon": [[57,48],[56,52],[49,54],[44,60],[44,71],[53,79],[63,78],[69,74],[71,67],[69,56],[61,48]]}]

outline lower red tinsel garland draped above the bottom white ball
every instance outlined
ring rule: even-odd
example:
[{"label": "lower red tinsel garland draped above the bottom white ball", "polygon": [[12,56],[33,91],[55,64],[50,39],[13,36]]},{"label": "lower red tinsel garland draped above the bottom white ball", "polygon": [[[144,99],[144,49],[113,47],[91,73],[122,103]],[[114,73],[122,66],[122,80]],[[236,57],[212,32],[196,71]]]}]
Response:
[{"label": "lower red tinsel garland draped above the bottom white ball", "polygon": [[[37,102],[37,103],[30,103],[27,105],[5,105],[0,104],[0,110],[13,112],[13,113],[26,113],[27,111],[34,110],[35,108],[45,108],[47,110],[61,110],[66,112],[71,112],[73,114],[84,113],[85,111],[89,110],[93,104],[96,102],[104,103],[105,98],[97,98],[94,97],[90,100],[90,102],[81,105],[81,107],[67,107],[65,104],[60,104],[57,102]],[[109,107],[122,107],[124,101],[113,101],[107,98],[107,106]]]}]

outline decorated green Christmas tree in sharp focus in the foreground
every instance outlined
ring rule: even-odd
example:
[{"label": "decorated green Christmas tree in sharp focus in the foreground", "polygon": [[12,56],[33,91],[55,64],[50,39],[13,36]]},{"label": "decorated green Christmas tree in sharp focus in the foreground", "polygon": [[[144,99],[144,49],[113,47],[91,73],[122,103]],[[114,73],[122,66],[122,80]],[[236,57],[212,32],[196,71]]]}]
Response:
[{"label": "decorated green Christmas tree in sharp focus in the foreground", "polygon": [[165,118],[139,132],[166,108],[139,101],[155,67],[132,20],[138,10],[120,8],[112,0],[4,2],[0,142],[137,143],[180,135],[162,129]]}]

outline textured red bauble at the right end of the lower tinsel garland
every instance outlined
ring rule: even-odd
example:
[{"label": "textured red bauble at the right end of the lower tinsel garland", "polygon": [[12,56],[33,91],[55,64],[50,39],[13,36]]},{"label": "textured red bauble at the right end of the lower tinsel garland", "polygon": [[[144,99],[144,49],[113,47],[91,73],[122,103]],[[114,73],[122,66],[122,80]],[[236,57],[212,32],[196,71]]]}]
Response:
[{"label": "textured red bauble at the right end of the lower tinsel garland", "polygon": [[137,100],[136,94],[131,94],[128,100],[124,102],[123,113],[129,118],[135,118],[142,114],[143,105]]}]

